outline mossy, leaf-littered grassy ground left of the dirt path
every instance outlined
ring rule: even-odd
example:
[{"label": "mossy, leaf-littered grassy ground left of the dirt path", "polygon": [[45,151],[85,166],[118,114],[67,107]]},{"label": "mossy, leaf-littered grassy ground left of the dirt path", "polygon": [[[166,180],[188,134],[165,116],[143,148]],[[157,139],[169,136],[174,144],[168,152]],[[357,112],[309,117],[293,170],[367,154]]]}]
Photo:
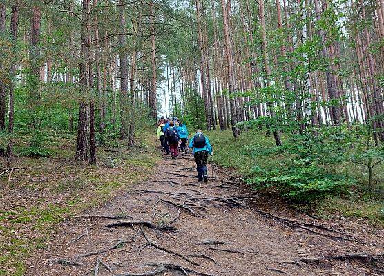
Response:
[{"label": "mossy, leaf-littered grassy ground left of the dirt path", "polygon": [[[51,157],[19,157],[18,166],[28,169],[17,172],[10,189],[34,193],[35,197],[17,201],[0,195],[4,196],[0,202],[0,275],[24,275],[26,259],[36,248],[46,247],[61,221],[104,203],[151,175],[160,158],[154,137],[137,137],[137,146],[132,149],[119,141],[115,144],[119,152],[98,148],[97,166],[74,162],[74,145],[68,139],[55,139]],[[111,167],[105,159],[119,162]]]}]

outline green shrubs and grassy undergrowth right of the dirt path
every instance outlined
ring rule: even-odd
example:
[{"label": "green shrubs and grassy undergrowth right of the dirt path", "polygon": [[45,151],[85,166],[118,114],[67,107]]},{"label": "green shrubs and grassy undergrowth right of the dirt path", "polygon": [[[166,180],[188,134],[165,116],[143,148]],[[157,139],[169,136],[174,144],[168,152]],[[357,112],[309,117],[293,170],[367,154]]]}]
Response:
[{"label": "green shrubs and grassy undergrowth right of the dirt path", "polygon": [[272,193],[272,197],[278,193],[300,208],[311,212],[316,208],[323,217],[340,213],[380,221],[383,164],[376,165],[372,181],[376,185],[370,190],[366,166],[350,161],[352,152],[367,161],[364,133],[364,126],[309,129],[303,135],[282,135],[283,146],[279,147],[258,128],[238,137],[229,131],[207,134],[215,163],[235,168],[260,193]]}]

